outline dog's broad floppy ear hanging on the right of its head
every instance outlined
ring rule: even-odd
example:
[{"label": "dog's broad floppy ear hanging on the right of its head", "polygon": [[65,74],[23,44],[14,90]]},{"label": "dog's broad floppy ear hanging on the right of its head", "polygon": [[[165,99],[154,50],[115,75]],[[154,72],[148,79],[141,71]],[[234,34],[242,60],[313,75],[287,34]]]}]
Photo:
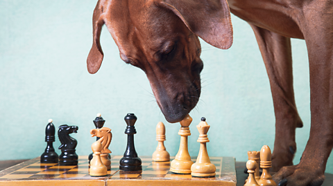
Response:
[{"label": "dog's broad floppy ear hanging on the right of its head", "polygon": [[208,44],[221,49],[232,45],[232,24],[226,0],[155,0],[172,10],[184,24]]}]

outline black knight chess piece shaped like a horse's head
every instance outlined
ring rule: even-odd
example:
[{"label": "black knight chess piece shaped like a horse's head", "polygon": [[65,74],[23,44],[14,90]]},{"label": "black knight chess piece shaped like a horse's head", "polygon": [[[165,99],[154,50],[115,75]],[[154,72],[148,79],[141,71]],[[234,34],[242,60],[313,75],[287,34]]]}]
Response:
[{"label": "black knight chess piece shaped like a horse's head", "polygon": [[78,165],[78,155],[75,153],[76,145],[78,142],[76,139],[71,138],[69,133],[77,133],[78,127],[68,126],[62,124],[58,130],[58,137],[61,142],[59,149],[61,154],[59,156],[59,165]]}]

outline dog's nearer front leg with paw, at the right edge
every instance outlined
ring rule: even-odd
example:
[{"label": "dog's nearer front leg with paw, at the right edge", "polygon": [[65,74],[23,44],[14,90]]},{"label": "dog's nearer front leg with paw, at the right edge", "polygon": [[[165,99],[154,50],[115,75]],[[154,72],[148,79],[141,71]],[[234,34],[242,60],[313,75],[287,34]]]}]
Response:
[{"label": "dog's nearer front leg with paw, at the right edge", "polygon": [[302,11],[299,20],[309,55],[311,129],[300,163],[283,167],[274,176],[287,186],[321,185],[333,147],[333,17],[328,13],[333,6],[311,1]]}]

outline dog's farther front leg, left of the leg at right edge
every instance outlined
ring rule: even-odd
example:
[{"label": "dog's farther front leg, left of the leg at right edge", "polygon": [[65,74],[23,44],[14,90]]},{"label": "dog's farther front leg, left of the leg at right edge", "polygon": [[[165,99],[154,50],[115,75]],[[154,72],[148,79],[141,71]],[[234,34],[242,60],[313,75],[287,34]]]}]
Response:
[{"label": "dog's farther front leg, left of the leg at right edge", "polygon": [[[251,25],[251,24],[250,24]],[[251,25],[266,66],[275,111],[273,171],[293,165],[296,152],[295,131],[302,127],[293,94],[290,38]]]}]

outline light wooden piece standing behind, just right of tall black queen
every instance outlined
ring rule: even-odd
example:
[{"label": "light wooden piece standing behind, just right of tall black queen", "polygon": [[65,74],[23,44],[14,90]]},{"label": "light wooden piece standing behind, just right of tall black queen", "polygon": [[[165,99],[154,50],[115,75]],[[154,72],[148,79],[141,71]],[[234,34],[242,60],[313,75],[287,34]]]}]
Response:
[{"label": "light wooden piece standing behind, just right of tall black queen", "polygon": [[156,126],[156,140],[158,145],[156,151],[153,153],[153,161],[156,162],[165,162],[170,160],[170,154],[167,149],[164,147],[165,141],[165,127],[162,122],[158,122]]}]

